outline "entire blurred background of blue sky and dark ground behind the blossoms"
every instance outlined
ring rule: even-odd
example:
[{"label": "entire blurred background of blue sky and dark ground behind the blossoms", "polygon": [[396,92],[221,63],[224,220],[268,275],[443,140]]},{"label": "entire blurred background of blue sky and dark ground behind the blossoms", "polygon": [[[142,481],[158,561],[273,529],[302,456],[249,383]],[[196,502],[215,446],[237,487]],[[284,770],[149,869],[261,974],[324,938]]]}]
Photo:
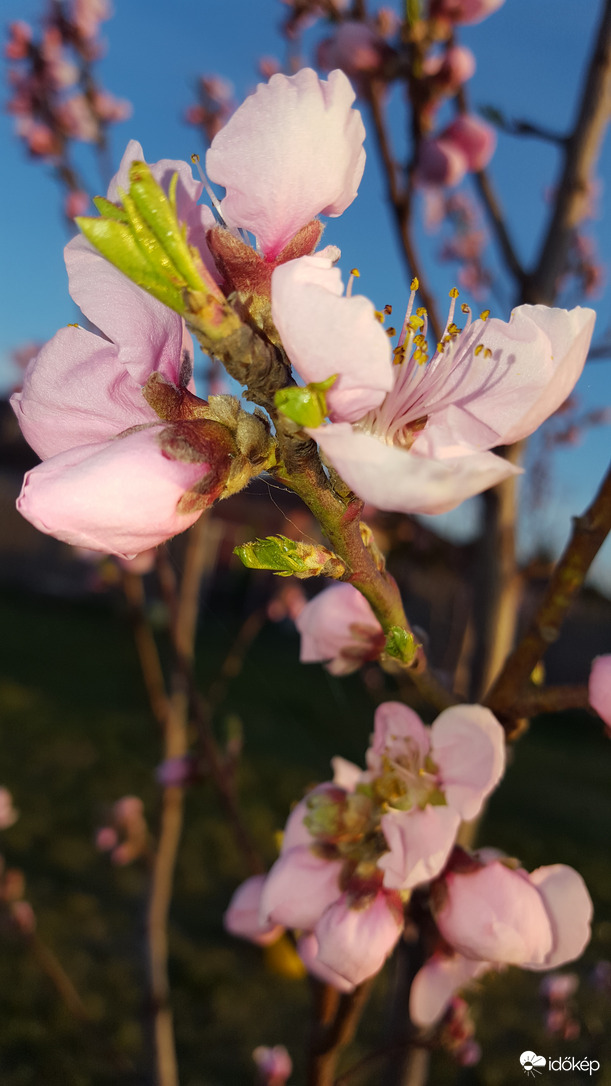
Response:
[{"label": "entire blurred background of blue sky and dark ground behind the blossoms", "polygon": [[[77,319],[62,249],[71,236],[66,210],[86,207],[66,207],[69,192],[84,193],[84,201],[104,192],[132,138],[149,162],[203,155],[205,130],[214,124],[211,111],[222,118],[275,67],[287,68],[298,56],[313,62],[330,26],[323,20],[306,23],[297,40],[288,39],[283,26],[291,11],[279,0],[175,0],[171,9],[161,0],[117,0],[113,17],[97,29],[88,62],[100,93],[113,97],[100,103],[101,128],[88,130],[78,111],[68,117],[77,134],[69,139],[69,184],[65,175],[59,178],[56,155],[43,134],[15,110],[20,87],[10,73],[21,71],[23,59],[18,33],[7,36],[8,109],[0,117],[0,785],[10,790],[20,817],[1,831],[0,842],[2,1086],[150,1081],[142,1070],[148,859],[144,853],[132,864],[113,863],[97,842],[122,797],[140,797],[155,820],[161,740],[139,662],[139,617],[156,637],[162,667],[170,668],[167,598],[155,571],[141,579],[111,558],[78,554],[36,532],[14,509],[23,473],[36,456],[20,435],[8,396],[37,346]],[[526,266],[545,228],[558,147],[552,139],[518,138],[504,127],[515,121],[556,134],[571,127],[599,12],[594,0],[578,10],[574,0],[507,0],[491,18],[460,28],[460,40],[476,56],[469,84],[473,108],[487,108],[488,115],[496,111],[500,126],[489,171]],[[49,8],[43,0],[0,0],[0,13],[7,27],[24,21],[39,37]],[[404,155],[398,88],[389,91],[387,108],[397,153]],[[370,141],[366,148],[359,197],[329,222],[326,240],[342,249],[345,275],[358,267],[359,290],[380,308],[392,304],[398,323],[410,275],[393,237],[374,149]],[[595,357],[568,407],[527,450],[519,534],[522,626],[540,598],[571,517],[591,500],[609,457],[611,230],[603,181],[610,165],[608,141],[584,228],[583,266],[563,299],[597,310]],[[467,179],[459,191],[468,194],[470,185]],[[433,197],[422,193],[417,241],[441,312],[458,282],[462,299],[478,311],[489,305],[507,319],[514,302],[511,285],[487,243],[483,219],[474,230],[484,237],[486,274],[480,269],[480,279],[470,280],[470,293],[460,279],[464,261],[453,255],[448,219],[435,227]],[[198,368],[203,393],[206,359]],[[479,518],[476,500],[436,518],[371,510],[407,614],[442,677],[464,659]],[[362,761],[375,705],[396,695],[395,681],[374,665],[336,679],[298,664],[293,617],[300,599],[288,590],[292,582],[249,573],[232,555],[238,543],[276,531],[307,538],[317,529],[296,500],[265,480],[208,516],[195,654],[218,742],[234,759],[249,824],[268,862],[291,804],[328,776],[333,755]],[[177,577],[184,555],[179,539],[167,553]],[[585,682],[593,657],[611,651],[610,595],[608,543],[562,639],[546,657],[550,683]],[[597,1082],[611,1084],[610,752],[602,723],[590,714],[537,718],[514,748],[481,834],[482,844],[518,856],[529,870],[564,862],[584,875],[596,904],[595,936],[584,960],[564,970],[575,976],[570,1010],[559,1026],[536,974],[509,970],[486,980],[473,999],[480,1063],[459,1068],[442,1053],[432,1082],[518,1082],[519,1056],[533,1049],[599,1059]],[[222,910],[246,872],[200,770],[195,767],[187,797],[170,932],[181,1082],[252,1082],[254,1047],[279,1043],[289,1047],[300,1082],[307,983],[293,975],[290,956],[275,957],[225,934]],[[383,1044],[387,995],[382,977],[346,1065]],[[375,1082],[368,1073],[373,1076],[349,1081]],[[577,1073],[569,1081],[582,1078]]]}]

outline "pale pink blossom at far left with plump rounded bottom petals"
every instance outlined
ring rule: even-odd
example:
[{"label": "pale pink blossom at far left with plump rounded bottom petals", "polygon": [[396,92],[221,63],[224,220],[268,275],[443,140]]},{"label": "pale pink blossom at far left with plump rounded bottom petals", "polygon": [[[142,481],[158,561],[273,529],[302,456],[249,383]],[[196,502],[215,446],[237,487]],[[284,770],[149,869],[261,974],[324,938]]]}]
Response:
[{"label": "pale pink blossom at far left with plump rounded bottom petals", "polygon": [[[190,379],[181,318],[82,239],[66,247],[66,264],[73,298],[105,338],[61,329],[12,396],[26,440],[43,458],[26,475],[17,508],[67,543],[130,557],[198,519],[202,502],[186,512],[179,503],[194,487],[209,487],[211,501],[218,496],[229,450],[199,428],[199,451],[182,452],[189,430],[161,420],[142,395],[153,372],[176,389]],[[225,468],[218,456],[227,457]]]}]

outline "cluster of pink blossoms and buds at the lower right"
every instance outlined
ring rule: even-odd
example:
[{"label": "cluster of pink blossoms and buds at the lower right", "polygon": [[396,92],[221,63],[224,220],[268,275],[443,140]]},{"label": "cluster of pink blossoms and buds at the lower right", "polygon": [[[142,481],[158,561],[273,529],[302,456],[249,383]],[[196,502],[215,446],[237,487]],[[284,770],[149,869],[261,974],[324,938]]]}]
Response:
[{"label": "cluster of pink blossoms and buds at the lower right", "polygon": [[412,709],[385,703],[366,760],[360,770],[334,759],[333,780],[296,805],[268,875],[236,892],[230,932],[267,943],[292,929],[307,969],[351,992],[382,968],[406,918],[418,923],[425,895],[434,923],[410,995],[421,1026],[488,970],[546,970],[581,955],[591,901],[576,871],[529,874],[496,850],[456,846],[461,821],[478,816],[505,769],[502,729],[488,709],[455,706],[429,729]]}]

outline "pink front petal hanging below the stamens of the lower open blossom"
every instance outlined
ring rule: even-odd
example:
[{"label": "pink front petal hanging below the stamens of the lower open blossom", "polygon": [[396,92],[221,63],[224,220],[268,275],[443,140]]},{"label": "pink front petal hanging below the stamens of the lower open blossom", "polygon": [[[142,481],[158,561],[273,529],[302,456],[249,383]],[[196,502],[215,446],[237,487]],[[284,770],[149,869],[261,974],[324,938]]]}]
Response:
[{"label": "pink front petal hanging below the stamens of the lower open blossom", "polygon": [[378,867],[384,872],[384,886],[410,889],[438,875],[459,825],[460,817],[450,807],[428,805],[383,815],[382,833],[390,851],[378,860]]}]

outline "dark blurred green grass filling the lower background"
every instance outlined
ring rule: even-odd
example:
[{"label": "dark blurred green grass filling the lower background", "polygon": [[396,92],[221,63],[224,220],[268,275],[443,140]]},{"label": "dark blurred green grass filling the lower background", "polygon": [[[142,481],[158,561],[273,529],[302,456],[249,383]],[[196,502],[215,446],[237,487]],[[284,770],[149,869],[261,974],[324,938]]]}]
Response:
[{"label": "dark blurred green grass filling the lower background", "polygon": [[[93,846],[110,805],[140,795],[154,824],[160,760],[127,623],[100,603],[4,594],[0,661],[0,784],[20,820],[0,850],[22,869],[38,932],[76,983],[97,1024],[84,1028],[58,1001],[31,955],[0,933],[0,1083],[2,1086],[106,1086],[147,1082],[142,980],[145,872],[115,869]],[[203,687],[214,678],[238,623],[204,608],[198,644]],[[240,791],[265,855],[291,803],[329,775],[334,754],[362,762],[373,703],[361,679],[334,680],[300,666],[297,637],[268,626],[229,687],[219,731],[232,717],[244,730]],[[387,696],[392,696],[389,685]],[[514,752],[493,797],[482,844],[519,856],[529,869],[564,862],[584,875],[596,905],[595,937],[576,970],[582,976],[582,1036],[568,1043],[544,1032],[540,976],[510,970],[488,978],[474,1002],[481,1063],[459,1069],[435,1057],[431,1083],[497,1086],[523,1081],[519,1056],[599,1059],[591,1078],[562,1083],[611,1086],[611,1011],[588,984],[598,959],[611,959],[609,835],[611,746],[586,715],[542,718]],[[241,1086],[253,1081],[251,1052],[285,1044],[303,1081],[307,984],[263,968],[262,951],[225,934],[222,910],[245,876],[214,796],[191,790],[171,923],[171,981],[182,1086]],[[568,967],[573,969],[573,967]],[[349,1065],[383,1044],[384,986],[377,987]],[[132,1062],[113,1066],[109,1049]],[[359,1082],[375,1083],[355,1076]]]}]

